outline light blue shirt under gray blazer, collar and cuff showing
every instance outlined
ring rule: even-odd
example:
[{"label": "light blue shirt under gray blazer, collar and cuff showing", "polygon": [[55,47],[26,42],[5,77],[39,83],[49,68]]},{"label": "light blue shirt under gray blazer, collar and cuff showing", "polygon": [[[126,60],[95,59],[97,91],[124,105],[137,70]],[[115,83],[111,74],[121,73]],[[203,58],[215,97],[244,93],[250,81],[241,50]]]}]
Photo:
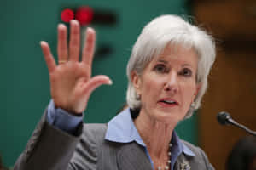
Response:
[{"label": "light blue shirt under gray blazer, collar and cuff showing", "polygon": [[[50,101],[47,114],[47,122],[49,122],[49,124],[58,127],[67,133],[73,134],[76,127],[78,127],[79,123],[82,121],[83,116],[73,116],[67,111],[57,109],[55,108],[53,100]],[[132,121],[131,111],[129,108],[121,111],[117,116],[114,116],[110,122],[108,122],[108,129],[105,139],[119,143],[130,143],[135,141],[137,144],[142,145],[154,169],[154,164],[149,156],[146,144],[144,144],[143,139],[137,132],[137,128]],[[172,133],[171,143],[171,169],[173,169],[174,164],[177,161],[177,157],[182,153],[188,156],[195,156],[195,154],[189,150],[189,148],[183,144],[183,142],[181,142],[177,136],[177,133],[174,131]]]}]

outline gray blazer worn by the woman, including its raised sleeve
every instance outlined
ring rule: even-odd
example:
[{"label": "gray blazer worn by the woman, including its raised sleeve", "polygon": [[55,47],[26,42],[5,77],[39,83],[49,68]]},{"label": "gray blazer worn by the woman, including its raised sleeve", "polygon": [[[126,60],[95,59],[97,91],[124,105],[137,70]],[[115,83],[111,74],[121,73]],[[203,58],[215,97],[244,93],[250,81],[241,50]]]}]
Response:
[{"label": "gray blazer worn by the woman, including its raised sleeve", "polygon": [[[142,146],[105,140],[107,124],[79,125],[74,136],[46,122],[46,113],[32,133],[15,170],[152,170]],[[181,155],[175,170],[212,170],[205,153],[183,141],[195,156]]]}]

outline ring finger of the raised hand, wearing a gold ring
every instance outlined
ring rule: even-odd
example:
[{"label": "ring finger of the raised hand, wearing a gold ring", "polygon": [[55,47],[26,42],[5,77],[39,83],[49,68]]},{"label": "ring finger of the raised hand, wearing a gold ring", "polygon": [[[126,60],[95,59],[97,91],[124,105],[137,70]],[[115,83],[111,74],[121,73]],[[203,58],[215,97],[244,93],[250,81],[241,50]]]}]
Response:
[{"label": "ring finger of the raised hand, wearing a gold ring", "polygon": [[[58,61],[67,61],[67,27],[64,24],[58,26]],[[61,61],[61,62],[60,62]]]}]

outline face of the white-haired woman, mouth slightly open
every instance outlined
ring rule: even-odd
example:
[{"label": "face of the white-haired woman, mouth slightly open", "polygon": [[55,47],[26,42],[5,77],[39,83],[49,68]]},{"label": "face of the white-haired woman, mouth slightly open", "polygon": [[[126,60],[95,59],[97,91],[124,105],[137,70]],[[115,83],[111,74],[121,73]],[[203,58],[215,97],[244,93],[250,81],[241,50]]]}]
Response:
[{"label": "face of the white-haired woman, mouth slightly open", "polygon": [[133,72],[132,82],[141,96],[140,114],[175,125],[181,121],[200,88],[195,82],[197,61],[194,49],[168,45],[142,75]]}]

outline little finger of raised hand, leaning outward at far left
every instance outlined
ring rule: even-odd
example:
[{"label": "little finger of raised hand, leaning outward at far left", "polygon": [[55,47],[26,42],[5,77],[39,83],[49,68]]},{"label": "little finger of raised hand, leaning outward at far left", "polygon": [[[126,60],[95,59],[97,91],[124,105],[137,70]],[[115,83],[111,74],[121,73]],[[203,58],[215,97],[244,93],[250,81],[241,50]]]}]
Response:
[{"label": "little finger of raised hand, leaning outward at far left", "polygon": [[55,64],[55,59],[53,58],[50,49],[49,49],[49,45],[47,42],[40,42],[41,44],[41,48],[44,54],[44,59],[46,62],[46,65],[48,66],[48,70],[49,73],[53,72],[55,70],[56,64]]}]

